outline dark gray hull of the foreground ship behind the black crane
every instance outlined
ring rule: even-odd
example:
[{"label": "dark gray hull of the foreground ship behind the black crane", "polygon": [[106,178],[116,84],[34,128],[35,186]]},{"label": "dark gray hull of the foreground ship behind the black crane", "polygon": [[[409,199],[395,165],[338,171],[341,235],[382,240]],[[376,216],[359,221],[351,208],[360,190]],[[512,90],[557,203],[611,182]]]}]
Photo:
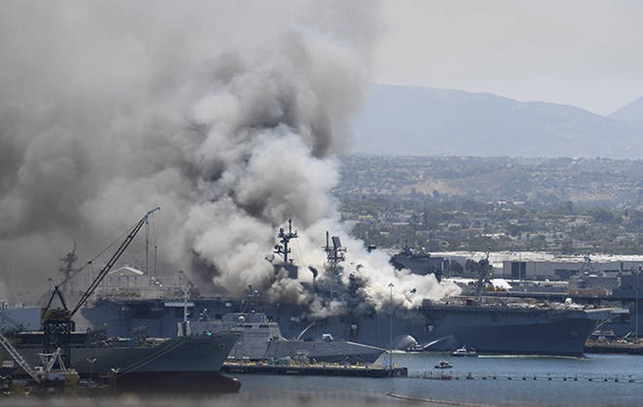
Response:
[{"label": "dark gray hull of the foreground ship behind the black crane", "polygon": [[[236,387],[219,370],[230,354],[237,334],[233,332],[132,338],[104,336],[100,330],[71,332],[69,361],[81,377],[109,377],[140,389],[145,383],[214,383]],[[15,349],[31,366],[41,363],[42,332],[18,332],[11,336]],[[121,386],[122,387],[122,386]],[[210,387],[212,388],[212,387]],[[234,390],[234,389],[233,389]]]}]

